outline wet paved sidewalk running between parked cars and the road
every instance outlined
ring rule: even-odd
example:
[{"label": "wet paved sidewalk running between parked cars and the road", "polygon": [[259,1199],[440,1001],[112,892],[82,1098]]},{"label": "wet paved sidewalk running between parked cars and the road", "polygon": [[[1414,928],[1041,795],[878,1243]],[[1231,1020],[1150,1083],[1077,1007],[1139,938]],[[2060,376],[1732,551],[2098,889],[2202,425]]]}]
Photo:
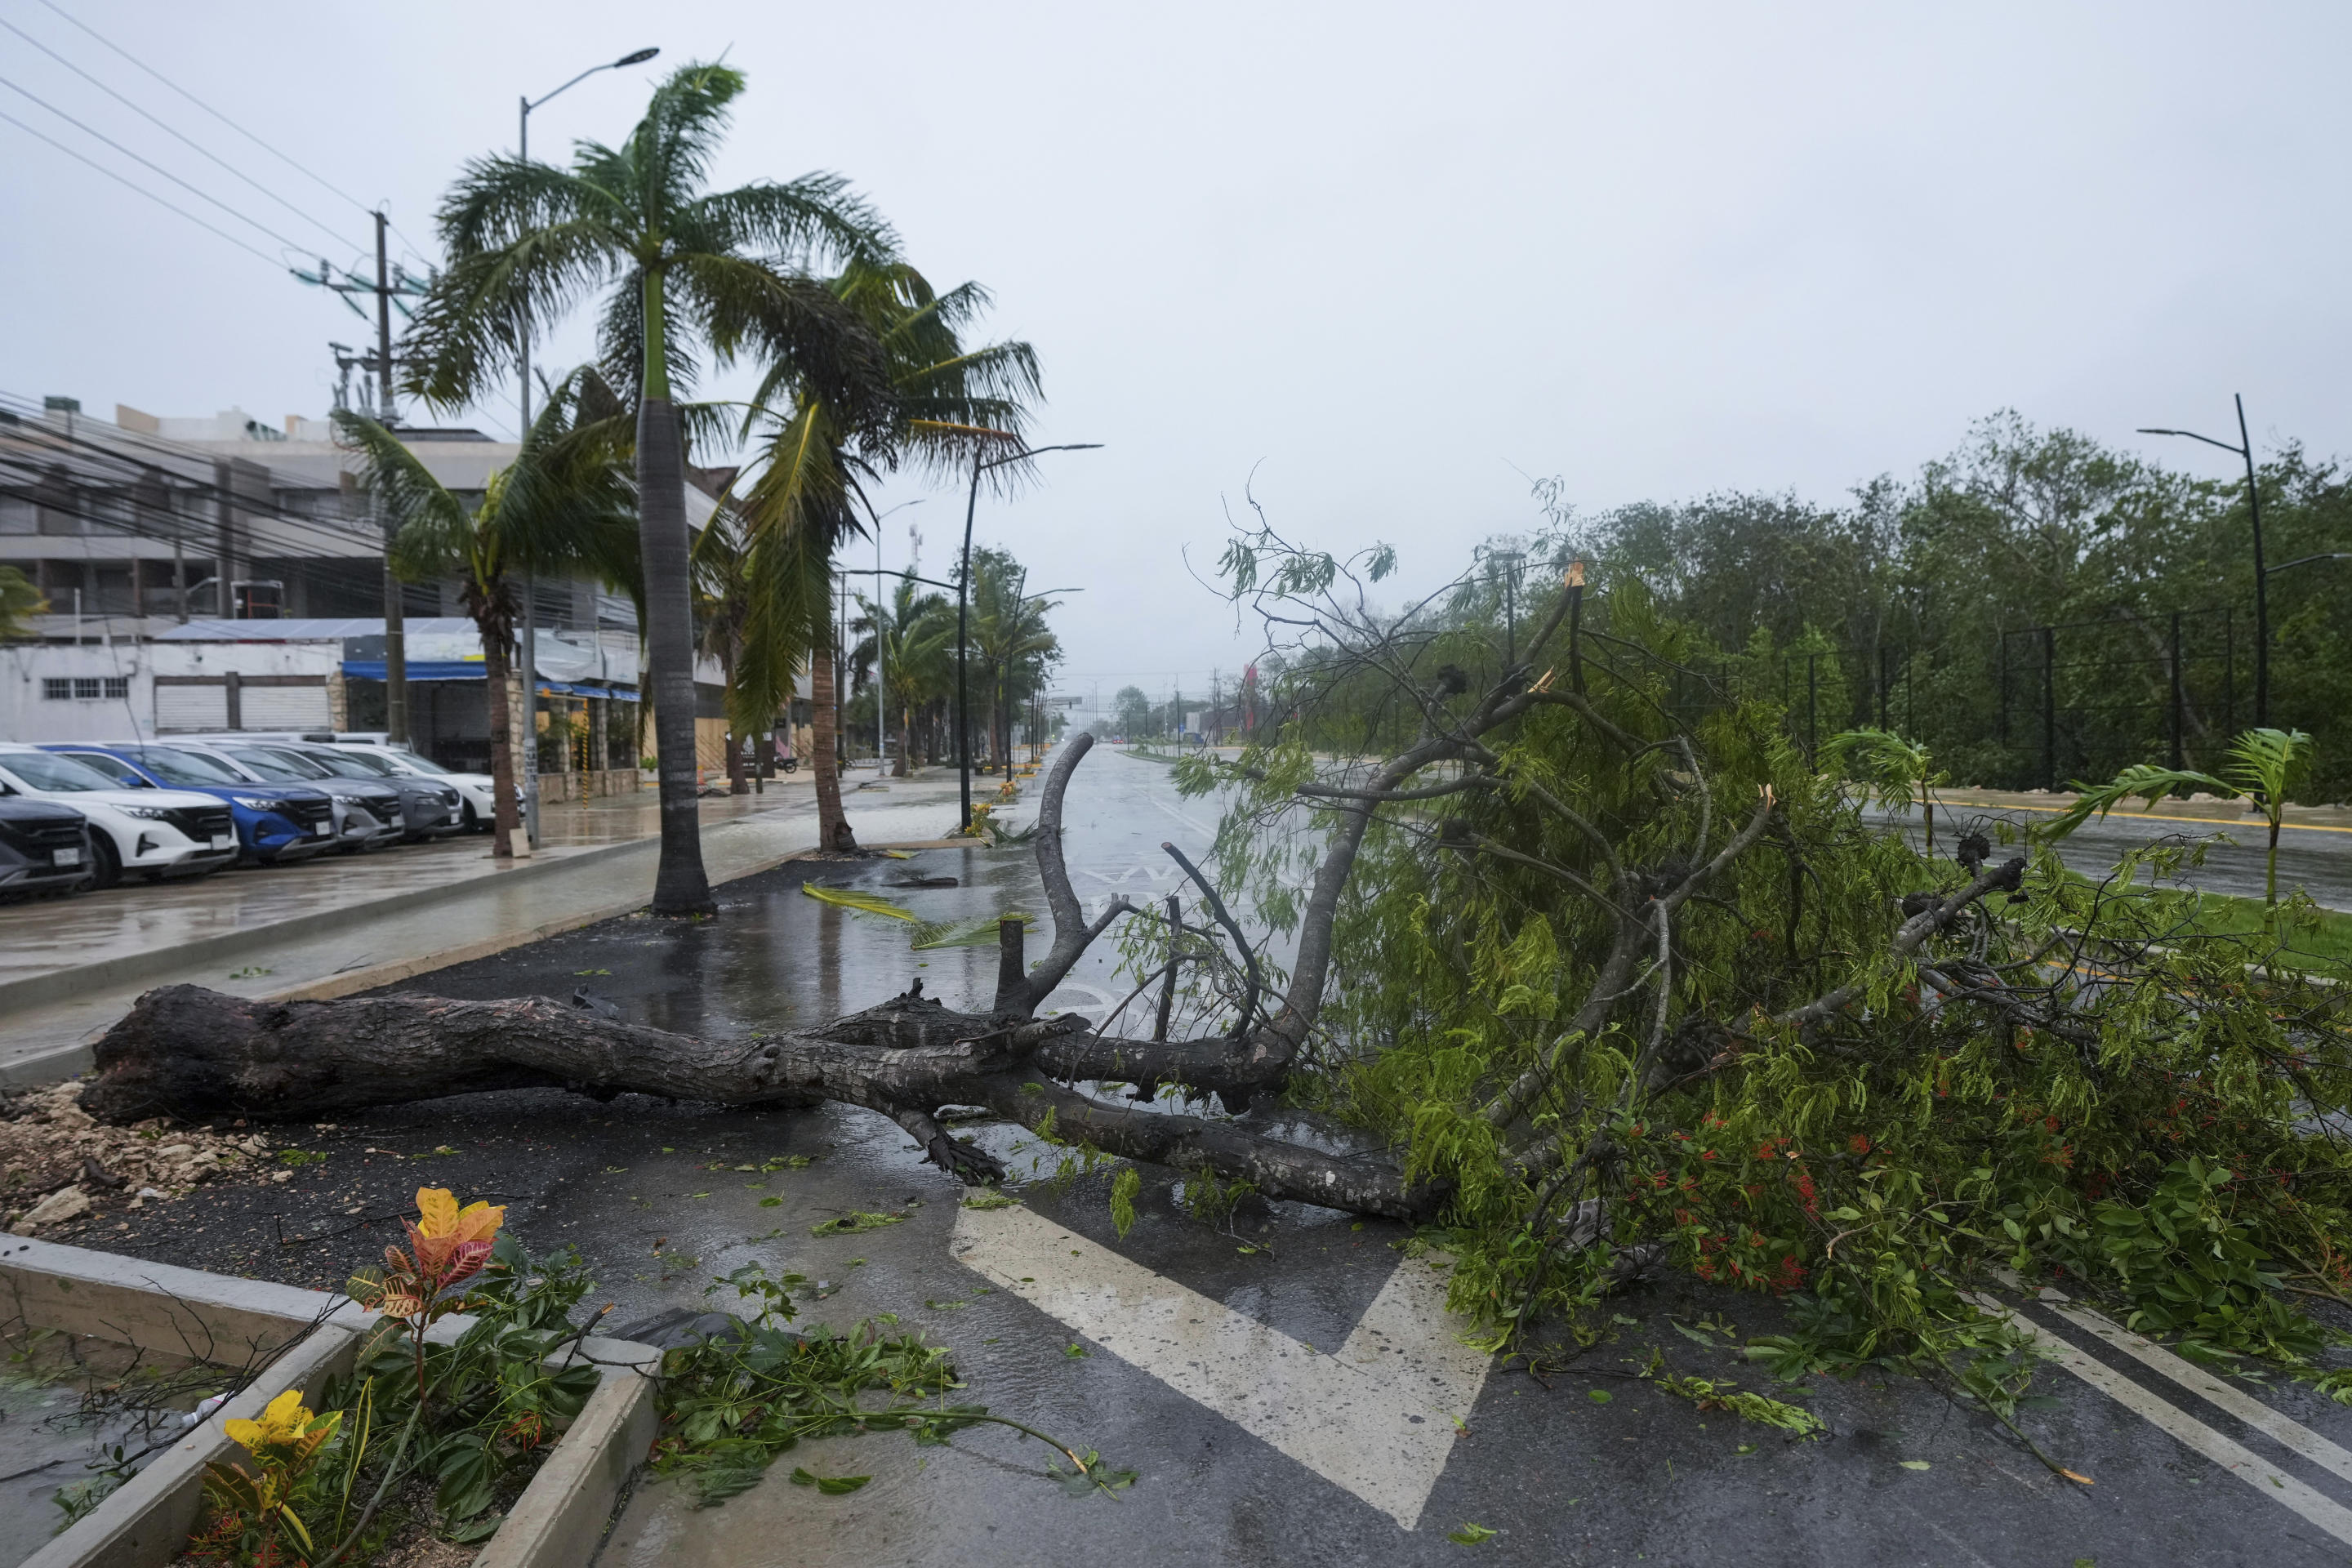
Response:
[{"label": "wet paved sidewalk running between parked cars and the road", "polygon": [[[781,788],[779,788],[781,783]],[[866,783],[868,788],[856,788]],[[861,844],[955,827],[955,773],[844,780]],[[240,997],[343,997],[520,943],[628,914],[654,889],[659,799],[607,797],[541,811],[541,853],[501,865],[487,837],[416,844],[183,886],[122,886],[0,907],[0,1084],[82,1072],[89,1041],[158,985]],[[713,884],[816,849],[811,780],[701,802]]]}]

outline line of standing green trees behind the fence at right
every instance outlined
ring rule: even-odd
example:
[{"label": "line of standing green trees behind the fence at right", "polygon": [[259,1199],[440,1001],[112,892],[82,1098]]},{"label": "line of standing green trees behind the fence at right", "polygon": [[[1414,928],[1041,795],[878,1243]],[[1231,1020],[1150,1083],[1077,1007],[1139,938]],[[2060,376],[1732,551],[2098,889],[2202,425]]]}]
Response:
[{"label": "line of standing green trees behind the fence at right", "polygon": [[[2258,482],[2272,564],[2352,548],[2340,463],[2284,447]],[[2244,480],[2004,411],[1915,477],[1882,475],[1839,505],[1719,491],[1578,515],[1557,480],[1538,498],[1550,527],[1529,562],[1581,555],[1599,588],[1637,576],[1722,668],[1780,698],[1799,738],[1896,729],[1957,783],[1994,788],[2173,762],[2176,614],[2176,766],[2218,769],[2253,724]],[[2270,724],[2314,736],[2305,799],[2352,792],[2347,569],[2319,559],[2270,578]]]}]

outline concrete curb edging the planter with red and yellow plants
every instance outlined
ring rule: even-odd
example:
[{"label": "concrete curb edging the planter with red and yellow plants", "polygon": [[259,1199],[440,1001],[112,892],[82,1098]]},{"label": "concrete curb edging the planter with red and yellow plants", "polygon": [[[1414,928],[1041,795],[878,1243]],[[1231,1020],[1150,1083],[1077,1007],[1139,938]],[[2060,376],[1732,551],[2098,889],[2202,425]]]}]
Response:
[{"label": "concrete curb edging the planter with red and yellow plants", "polygon": [[[219,1354],[221,1340],[240,1338],[259,1354],[301,1335],[268,1359],[240,1394],[21,1568],[162,1568],[174,1561],[202,1507],[205,1465],[233,1458],[226,1422],[256,1418],[289,1387],[313,1401],[332,1375],[350,1371],[372,1324],[355,1302],[336,1305],[339,1298],[322,1291],[14,1237],[0,1246],[0,1284],[28,1326],[94,1333],[92,1324],[99,1324],[99,1338],[169,1354],[200,1347]],[[470,1316],[445,1316],[430,1338],[454,1340],[470,1324]],[[656,1347],[588,1338],[567,1356],[600,1368],[597,1392],[515,1497],[499,1533],[475,1556],[475,1568],[586,1563],[654,1441]]]}]

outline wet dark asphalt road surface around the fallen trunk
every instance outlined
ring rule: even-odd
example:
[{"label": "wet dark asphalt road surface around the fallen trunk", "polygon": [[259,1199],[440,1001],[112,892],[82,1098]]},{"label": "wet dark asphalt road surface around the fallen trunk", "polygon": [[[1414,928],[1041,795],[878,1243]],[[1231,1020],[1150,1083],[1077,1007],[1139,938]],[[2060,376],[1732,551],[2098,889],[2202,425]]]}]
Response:
[{"label": "wet dark asphalt road surface around the fallen trunk", "polygon": [[[1016,813],[1018,816],[1018,813]],[[1178,802],[1162,766],[1117,755],[1084,764],[1070,802],[1068,851],[1082,893],[1174,886],[1160,839],[1204,849],[1209,806]],[[1190,835],[1190,837],[1185,837]],[[567,994],[588,985],[628,1016],[675,1030],[739,1032],[833,1016],[906,990],[983,1004],[993,950],[915,954],[896,922],[802,896],[804,879],[880,886],[908,867],[962,886],[903,893],[924,914],[1042,910],[1021,851],[924,851],[913,863],[788,865],[722,889],[708,926],[623,919],[536,947],[440,971],[402,990],[454,997]],[[1077,976],[1063,1006],[1101,1006],[1108,964]],[[1025,1168],[1035,1150],[1009,1128],[974,1133]],[[325,1284],[367,1258],[393,1225],[376,1220],[405,1187],[430,1180],[466,1197],[494,1190],[532,1246],[576,1244],[614,1302],[612,1326],[668,1307],[701,1307],[708,1279],[760,1260],[797,1269],[823,1295],[802,1321],[844,1324],[891,1312],[955,1347],[976,1399],[1115,1465],[1143,1472],[1117,1500],[1065,1497],[1042,1479],[1047,1453],[1009,1432],[967,1432],[950,1448],[903,1436],[807,1443],[779,1472],[870,1474],[849,1497],[823,1497],[774,1474],[753,1493],[694,1512],[663,1486],[640,1488],[602,1563],[2260,1563],[2352,1561],[2352,1512],[2312,1523],[2281,1505],[2296,1483],[2326,1507],[2352,1505],[2343,1472],[2291,1455],[2237,1415],[2206,1403],[2044,1307],[2030,1321],[2058,1333],[2147,1401],[2241,1443],[2258,1483],[2166,1436],[2122,1399],[2058,1368],[2020,1425],[2093,1486],[2060,1481],[1994,1422],[1917,1382],[1816,1378],[1778,1389],[1731,1340],[1778,1328],[1769,1298],[1665,1279],[1616,1302],[1613,1338],[1548,1380],[1496,1368],[1461,1413],[1414,1528],[1364,1495],[1294,1460],[1235,1420],[997,1288],[955,1253],[960,1190],[920,1164],[882,1117],[828,1105],[814,1112],[710,1112],[626,1095],[593,1105],[553,1091],[409,1105],[306,1135],[329,1154],[256,1199],[282,1234],[315,1248],[261,1248],[254,1272]],[[407,1152],[407,1157],[388,1154]],[[421,1150],[447,1150],[419,1161]],[[802,1171],[757,1171],[779,1154],[811,1154]],[[743,1166],[753,1166],[746,1171]],[[1395,1225],[1296,1204],[1244,1204],[1225,1229],[1176,1206],[1174,1182],[1145,1173],[1138,1222],[1120,1239],[1108,1173],[1065,1187],[1016,1182],[1023,1201],[1068,1229],[1070,1251],[1103,1248],[1169,1286],[1329,1354],[1399,1269]],[[254,1190],[247,1190],[254,1192]],[[129,1241],[143,1255],[205,1258],[200,1192],[179,1222]],[[360,1220],[343,1218],[362,1211]],[[814,1237],[847,1211],[903,1211],[906,1222],[854,1237]],[[374,1229],[369,1229],[374,1227]],[[80,1239],[80,1237],[71,1237]],[[348,1253],[348,1260],[343,1258]],[[301,1265],[289,1262],[301,1258]],[[216,1255],[207,1267],[228,1267]],[[1084,1260],[1073,1267],[1084,1267]],[[2011,1298],[2016,1300],[2016,1298]],[[1729,1324],[1731,1335],[1698,1331]],[[1679,1324],[1679,1326],[1677,1326]],[[1691,1328],[1691,1333],[1684,1333]],[[1430,1324],[1432,1335],[1451,1326]],[[1632,1373],[1651,1349],[1682,1373],[1769,1387],[1820,1415],[1830,1434],[1799,1441],[1700,1413]],[[1268,1363],[1265,1380],[1287,1373]],[[2296,1387],[2246,1389],[2321,1439],[2352,1448],[2352,1410]],[[1592,1394],[1606,1394],[1606,1403]],[[1341,1439],[1352,1434],[1341,1420]],[[2183,1427],[2185,1429],[2185,1427]],[[1388,1439],[1367,1427],[1362,1443]],[[2201,1441],[2201,1439],[2199,1439]],[[2326,1450],[2319,1450],[2326,1453]],[[2272,1481],[2272,1474],[2277,1481]],[[2340,1509],[2338,1509],[2340,1512]],[[1463,1547],[1468,1523],[1496,1535]]]}]

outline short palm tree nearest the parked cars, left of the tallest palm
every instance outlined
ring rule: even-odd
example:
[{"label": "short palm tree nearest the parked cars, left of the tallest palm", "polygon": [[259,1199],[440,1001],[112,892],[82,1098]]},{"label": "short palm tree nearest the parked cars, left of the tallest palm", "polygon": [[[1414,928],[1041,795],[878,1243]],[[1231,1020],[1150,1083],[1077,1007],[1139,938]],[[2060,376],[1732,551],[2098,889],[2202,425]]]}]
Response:
[{"label": "short palm tree nearest the parked cars, left of the tallest palm", "polygon": [[[522,825],[515,799],[513,708],[506,698],[517,571],[567,571],[609,588],[637,588],[637,496],[607,430],[619,400],[595,371],[567,378],[522,435],[522,451],[489,475],[468,508],[390,430],[339,409],[343,440],[367,461],[367,484],[397,529],[393,571],[407,581],[456,576],[466,614],[482,635],[489,708],[492,853],[515,853]],[[529,679],[529,672],[524,672]]]}]

